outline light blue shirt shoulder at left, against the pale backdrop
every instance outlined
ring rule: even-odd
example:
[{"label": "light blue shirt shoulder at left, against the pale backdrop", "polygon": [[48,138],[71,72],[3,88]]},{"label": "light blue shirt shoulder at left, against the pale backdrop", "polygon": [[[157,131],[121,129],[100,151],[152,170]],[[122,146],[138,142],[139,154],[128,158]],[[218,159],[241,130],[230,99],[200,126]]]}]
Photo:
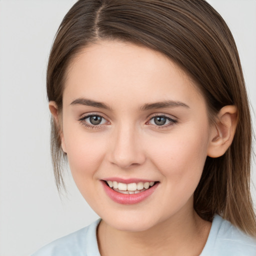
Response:
[{"label": "light blue shirt shoulder at left, against the pale backdrop", "polygon": [[31,256],[99,256],[96,238],[99,221],[50,242]]}]

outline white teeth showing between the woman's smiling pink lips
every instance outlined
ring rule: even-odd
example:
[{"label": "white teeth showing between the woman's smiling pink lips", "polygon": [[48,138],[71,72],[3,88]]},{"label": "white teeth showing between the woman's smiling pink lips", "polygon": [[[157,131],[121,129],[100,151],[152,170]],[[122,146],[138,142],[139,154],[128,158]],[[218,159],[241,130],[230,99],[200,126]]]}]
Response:
[{"label": "white teeth showing between the woman's smiling pink lips", "polygon": [[143,192],[150,187],[154,186],[159,181],[150,181],[150,182],[133,182],[133,183],[121,183],[117,181],[104,180],[105,183],[112,188],[114,191],[122,194],[137,194]]}]

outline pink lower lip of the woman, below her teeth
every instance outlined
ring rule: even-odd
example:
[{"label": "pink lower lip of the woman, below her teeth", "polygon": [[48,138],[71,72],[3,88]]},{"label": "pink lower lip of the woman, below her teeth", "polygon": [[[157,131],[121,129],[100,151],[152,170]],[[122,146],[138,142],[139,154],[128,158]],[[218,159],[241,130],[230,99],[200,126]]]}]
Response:
[{"label": "pink lower lip of the woman, below her teeth", "polygon": [[146,199],[150,194],[154,192],[156,187],[158,186],[159,182],[151,186],[150,188],[146,189],[145,191],[136,193],[136,194],[122,194],[114,191],[112,188],[110,188],[105,181],[101,180],[101,183],[103,184],[104,190],[106,194],[115,202],[121,203],[121,204],[134,204],[139,203]]}]

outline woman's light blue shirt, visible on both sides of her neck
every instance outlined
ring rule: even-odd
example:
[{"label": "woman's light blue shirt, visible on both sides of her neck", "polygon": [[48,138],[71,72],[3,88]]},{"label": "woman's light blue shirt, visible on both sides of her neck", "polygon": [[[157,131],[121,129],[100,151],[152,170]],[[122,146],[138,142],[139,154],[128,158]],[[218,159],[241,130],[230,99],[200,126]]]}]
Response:
[{"label": "woman's light blue shirt, visible on both sides of her neck", "polygon": [[[100,256],[96,237],[99,221],[45,245],[32,256]],[[215,215],[200,256],[256,256],[256,240]]]}]

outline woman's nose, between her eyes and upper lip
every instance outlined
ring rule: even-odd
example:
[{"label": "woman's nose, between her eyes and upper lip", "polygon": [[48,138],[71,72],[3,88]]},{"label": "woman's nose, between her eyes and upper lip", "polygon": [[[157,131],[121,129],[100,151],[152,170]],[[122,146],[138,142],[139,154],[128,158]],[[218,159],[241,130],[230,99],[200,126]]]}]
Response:
[{"label": "woman's nose, between her eyes and upper lip", "polygon": [[146,156],[141,142],[139,131],[132,126],[122,125],[114,131],[110,142],[110,162],[123,169],[142,164]]}]

